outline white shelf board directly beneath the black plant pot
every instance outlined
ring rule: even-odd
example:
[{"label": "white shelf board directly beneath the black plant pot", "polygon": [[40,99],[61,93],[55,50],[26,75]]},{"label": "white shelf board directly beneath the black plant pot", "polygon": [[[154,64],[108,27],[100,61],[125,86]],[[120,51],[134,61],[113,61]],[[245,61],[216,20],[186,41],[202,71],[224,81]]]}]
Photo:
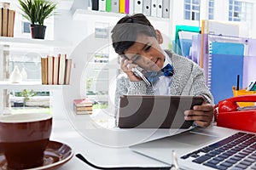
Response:
[{"label": "white shelf board directly beneath the black plant pot", "polygon": [[54,40],[42,40],[22,37],[0,37],[0,44],[2,45],[22,45],[22,46],[44,46],[44,47],[71,47],[72,43]]}]

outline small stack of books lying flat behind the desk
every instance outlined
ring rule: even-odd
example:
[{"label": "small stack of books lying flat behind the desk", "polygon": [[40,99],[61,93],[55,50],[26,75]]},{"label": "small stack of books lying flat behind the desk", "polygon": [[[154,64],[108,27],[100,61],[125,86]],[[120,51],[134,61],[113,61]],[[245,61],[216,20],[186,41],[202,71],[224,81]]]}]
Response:
[{"label": "small stack of books lying flat behind the desk", "polygon": [[73,111],[78,115],[92,114],[92,101],[90,99],[74,99]]}]

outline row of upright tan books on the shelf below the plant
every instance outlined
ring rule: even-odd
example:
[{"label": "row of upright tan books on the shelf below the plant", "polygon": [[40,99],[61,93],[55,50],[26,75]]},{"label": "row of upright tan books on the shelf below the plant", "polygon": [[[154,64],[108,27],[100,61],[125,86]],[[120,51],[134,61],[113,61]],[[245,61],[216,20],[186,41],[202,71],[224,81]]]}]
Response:
[{"label": "row of upright tan books on the shelf below the plant", "polygon": [[69,84],[71,65],[66,54],[41,58],[42,84]]}]

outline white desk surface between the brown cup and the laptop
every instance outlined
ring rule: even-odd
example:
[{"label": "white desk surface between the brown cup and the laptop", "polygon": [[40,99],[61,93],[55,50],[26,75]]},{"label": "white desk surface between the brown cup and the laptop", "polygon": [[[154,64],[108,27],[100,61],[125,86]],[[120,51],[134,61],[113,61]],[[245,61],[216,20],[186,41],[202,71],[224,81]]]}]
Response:
[{"label": "white desk surface between the brown cup and the laptop", "polygon": [[[104,119],[102,119],[104,120]],[[73,127],[73,124],[76,126]],[[162,161],[156,161],[147,156],[139,155],[129,149],[128,145],[132,142],[141,142],[141,140],[133,139],[158,139],[160,136],[167,136],[166,132],[172,133],[168,130],[160,130],[157,133],[151,133],[148,130],[135,131],[129,133],[123,133],[119,130],[118,133],[108,132],[108,130],[93,128],[96,125],[93,123],[90,116],[77,116],[68,115],[66,118],[54,118],[53,121],[53,133],[51,140],[59,141],[68,144],[72,147],[74,154],[82,154],[85,159],[90,161],[97,167],[169,167],[170,165],[163,163]],[[211,133],[218,133],[216,131],[220,127],[208,127],[206,131]],[[200,129],[198,133],[200,133]],[[121,133],[119,133],[121,132]],[[149,133],[148,133],[149,132]],[[160,133],[159,133],[160,132]],[[225,128],[224,138],[227,134],[235,133],[236,130]],[[218,135],[213,135],[218,136]],[[102,142],[100,140],[102,139]],[[127,141],[127,142],[126,142]],[[204,142],[203,142],[204,144]],[[197,144],[195,145],[197,148]],[[190,148],[194,150],[195,148]],[[185,150],[186,152],[188,150]],[[168,151],[169,153],[169,151]],[[171,153],[171,151],[170,151]],[[168,159],[169,160],[169,159]],[[167,162],[167,161],[166,161]],[[183,162],[180,161],[180,166],[183,167]],[[170,164],[172,164],[172,155],[170,154]],[[183,164],[183,165],[182,165]],[[70,161],[67,161],[61,170],[83,170],[94,169],[87,165],[84,161],[79,160],[76,156]],[[195,168],[196,169],[196,168]]]}]

